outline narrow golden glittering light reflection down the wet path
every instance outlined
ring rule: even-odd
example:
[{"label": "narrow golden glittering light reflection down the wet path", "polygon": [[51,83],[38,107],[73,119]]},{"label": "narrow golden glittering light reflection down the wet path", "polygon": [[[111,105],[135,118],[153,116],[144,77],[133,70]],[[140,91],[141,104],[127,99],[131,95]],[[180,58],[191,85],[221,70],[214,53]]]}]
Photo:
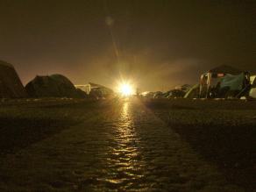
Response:
[{"label": "narrow golden glittering light reflection down the wet path", "polygon": [[116,123],[113,126],[115,130],[107,158],[110,171],[105,181],[116,187],[120,185],[119,187],[125,190],[134,187],[134,184],[144,177],[145,168],[139,153],[139,138],[136,135],[129,101],[123,103]]}]

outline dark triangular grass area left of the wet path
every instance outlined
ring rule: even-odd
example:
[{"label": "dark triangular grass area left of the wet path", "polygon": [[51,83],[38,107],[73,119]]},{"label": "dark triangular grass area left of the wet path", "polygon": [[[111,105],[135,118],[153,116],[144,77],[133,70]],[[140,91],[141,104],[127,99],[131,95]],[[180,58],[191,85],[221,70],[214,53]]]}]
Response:
[{"label": "dark triangular grass area left of the wet path", "polygon": [[0,156],[96,117],[110,103],[95,100],[29,99],[0,103]]}]

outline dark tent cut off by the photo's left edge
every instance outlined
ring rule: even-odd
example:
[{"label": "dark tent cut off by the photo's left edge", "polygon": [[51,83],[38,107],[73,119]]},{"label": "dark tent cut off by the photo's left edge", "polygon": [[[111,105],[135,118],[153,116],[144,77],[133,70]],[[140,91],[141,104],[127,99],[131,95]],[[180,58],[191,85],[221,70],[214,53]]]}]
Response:
[{"label": "dark tent cut off by the photo's left edge", "polygon": [[13,66],[0,60],[0,97],[21,98],[25,96],[25,88]]}]

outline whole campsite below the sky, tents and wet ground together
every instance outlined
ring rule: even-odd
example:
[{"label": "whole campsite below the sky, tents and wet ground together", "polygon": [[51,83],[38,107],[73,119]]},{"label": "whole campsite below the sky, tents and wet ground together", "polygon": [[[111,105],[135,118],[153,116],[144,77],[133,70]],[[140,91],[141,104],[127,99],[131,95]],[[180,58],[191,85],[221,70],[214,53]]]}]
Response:
[{"label": "whole campsite below the sky, tents and wet ground together", "polygon": [[[37,75],[23,87],[13,66],[4,61],[0,64],[3,191],[133,191],[160,188],[160,183],[165,183],[163,188],[181,191],[255,188],[253,75],[246,81],[244,72],[222,66],[203,74],[194,86],[120,97],[92,82],[75,86],[64,75]],[[210,80],[212,76],[221,83]],[[230,89],[217,95],[214,86],[221,90],[223,84]],[[144,125],[148,122],[152,127]],[[128,124],[136,124],[137,133]],[[114,151],[106,148],[109,142]],[[173,146],[175,152],[167,146]],[[67,157],[67,153],[72,155]],[[161,159],[154,161],[156,157]],[[108,167],[101,160],[119,163]],[[81,167],[81,161],[90,168]],[[68,166],[63,167],[64,162]],[[160,166],[164,168],[159,172],[139,176]],[[50,173],[45,171],[49,168]]]}]

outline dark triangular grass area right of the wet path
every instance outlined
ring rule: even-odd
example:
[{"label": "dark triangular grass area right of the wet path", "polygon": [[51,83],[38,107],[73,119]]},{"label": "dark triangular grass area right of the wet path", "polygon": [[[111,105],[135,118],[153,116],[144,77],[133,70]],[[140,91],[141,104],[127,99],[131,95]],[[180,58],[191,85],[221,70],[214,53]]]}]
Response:
[{"label": "dark triangular grass area right of the wet path", "polygon": [[256,102],[160,99],[144,103],[229,181],[248,191],[256,188]]}]

